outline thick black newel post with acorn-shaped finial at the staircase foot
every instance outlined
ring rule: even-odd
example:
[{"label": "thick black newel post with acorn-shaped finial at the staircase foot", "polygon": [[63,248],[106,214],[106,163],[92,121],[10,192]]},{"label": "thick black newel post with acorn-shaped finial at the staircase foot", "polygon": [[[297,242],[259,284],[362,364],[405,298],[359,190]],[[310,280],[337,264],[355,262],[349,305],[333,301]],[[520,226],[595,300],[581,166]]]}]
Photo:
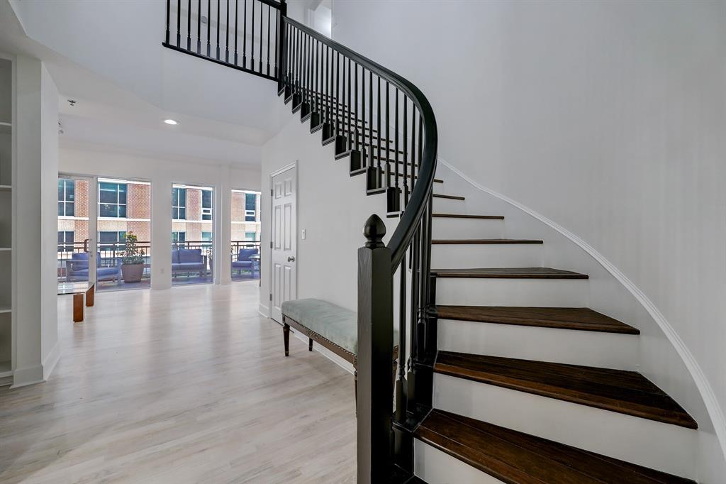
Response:
[{"label": "thick black newel post with acorn-shaped finial at the staircase foot", "polygon": [[365,222],[358,249],[358,483],[380,483],[391,472],[393,278],[386,225]]}]

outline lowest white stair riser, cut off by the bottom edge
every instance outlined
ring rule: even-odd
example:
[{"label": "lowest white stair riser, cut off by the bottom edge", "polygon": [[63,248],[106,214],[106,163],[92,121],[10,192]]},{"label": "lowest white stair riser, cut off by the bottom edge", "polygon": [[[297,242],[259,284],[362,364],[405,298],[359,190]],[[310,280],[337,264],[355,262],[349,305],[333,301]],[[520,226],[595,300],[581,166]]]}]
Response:
[{"label": "lowest white stair riser, cut off by the bottom edge", "polygon": [[502,484],[496,477],[421,440],[414,440],[413,449],[414,474],[429,484]]}]

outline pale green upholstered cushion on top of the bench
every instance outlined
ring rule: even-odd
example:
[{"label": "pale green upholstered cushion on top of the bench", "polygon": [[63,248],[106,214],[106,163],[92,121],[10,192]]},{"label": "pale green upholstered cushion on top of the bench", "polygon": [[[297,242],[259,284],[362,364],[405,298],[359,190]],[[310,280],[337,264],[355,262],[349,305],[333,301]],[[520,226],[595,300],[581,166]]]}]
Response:
[{"label": "pale green upholstered cushion on top of the bench", "polygon": [[[282,303],[282,314],[310,331],[358,354],[358,315],[320,299],[295,299]],[[399,331],[393,328],[393,346],[399,343]]]}]

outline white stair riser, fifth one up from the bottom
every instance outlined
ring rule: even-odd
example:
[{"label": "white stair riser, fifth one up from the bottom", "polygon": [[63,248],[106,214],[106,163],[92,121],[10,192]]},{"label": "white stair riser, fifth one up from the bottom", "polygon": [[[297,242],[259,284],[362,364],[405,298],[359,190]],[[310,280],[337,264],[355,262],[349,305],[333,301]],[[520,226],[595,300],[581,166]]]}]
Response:
[{"label": "white stair riser, fifth one up from the bottom", "polygon": [[431,267],[542,267],[542,244],[436,243],[431,246]]}]

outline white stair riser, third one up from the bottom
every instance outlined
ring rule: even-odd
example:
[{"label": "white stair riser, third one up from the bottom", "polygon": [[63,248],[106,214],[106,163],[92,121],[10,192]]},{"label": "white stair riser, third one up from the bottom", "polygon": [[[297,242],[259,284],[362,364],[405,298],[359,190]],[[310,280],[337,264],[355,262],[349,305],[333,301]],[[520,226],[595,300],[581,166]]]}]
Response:
[{"label": "white stair riser, third one up from the bottom", "polygon": [[439,350],[618,370],[638,369],[638,336],[439,319]]}]

